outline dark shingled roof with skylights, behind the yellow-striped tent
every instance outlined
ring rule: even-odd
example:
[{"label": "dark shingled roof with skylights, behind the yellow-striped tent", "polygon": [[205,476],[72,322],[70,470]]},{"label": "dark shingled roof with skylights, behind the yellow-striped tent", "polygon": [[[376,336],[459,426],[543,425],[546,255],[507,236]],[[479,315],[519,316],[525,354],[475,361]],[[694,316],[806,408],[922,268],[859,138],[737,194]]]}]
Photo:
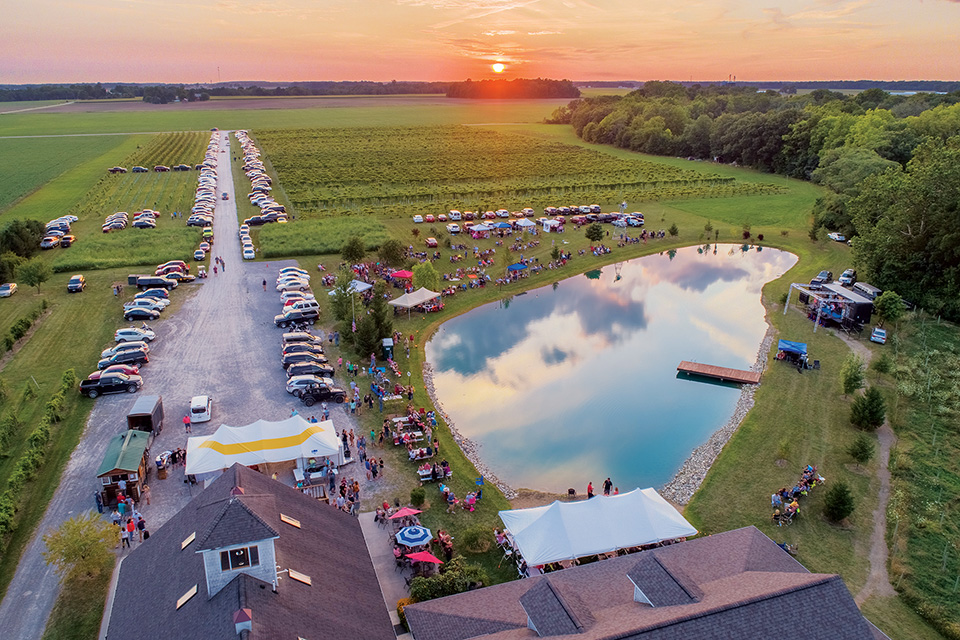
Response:
[{"label": "dark shingled roof with skylights, behind the yellow-striped tent", "polygon": [[[203,547],[268,537],[276,537],[276,592],[272,581],[238,572],[207,593]],[[117,594],[108,640],[395,638],[357,519],[240,465],[124,558]],[[241,609],[252,621],[238,636],[234,614]]]}]

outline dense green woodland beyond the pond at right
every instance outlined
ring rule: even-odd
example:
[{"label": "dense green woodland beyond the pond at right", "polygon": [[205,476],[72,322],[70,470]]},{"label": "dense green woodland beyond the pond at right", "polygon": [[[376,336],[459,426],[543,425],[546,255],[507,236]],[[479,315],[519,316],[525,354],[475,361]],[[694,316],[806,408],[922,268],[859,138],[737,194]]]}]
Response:
[{"label": "dense green woodland beyond the pond at right", "polygon": [[960,320],[960,92],[802,95],[648,82],[548,120],[588,142],[710,160],[827,188],[811,238],[852,237],[861,276]]}]

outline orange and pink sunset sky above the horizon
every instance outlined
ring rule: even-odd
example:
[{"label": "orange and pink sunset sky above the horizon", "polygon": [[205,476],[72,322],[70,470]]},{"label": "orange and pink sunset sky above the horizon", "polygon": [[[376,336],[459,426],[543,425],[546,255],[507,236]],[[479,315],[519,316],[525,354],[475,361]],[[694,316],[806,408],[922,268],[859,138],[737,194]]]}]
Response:
[{"label": "orange and pink sunset sky above the horizon", "polygon": [[0,2],[0,83],[960,79],[960,0]]}]

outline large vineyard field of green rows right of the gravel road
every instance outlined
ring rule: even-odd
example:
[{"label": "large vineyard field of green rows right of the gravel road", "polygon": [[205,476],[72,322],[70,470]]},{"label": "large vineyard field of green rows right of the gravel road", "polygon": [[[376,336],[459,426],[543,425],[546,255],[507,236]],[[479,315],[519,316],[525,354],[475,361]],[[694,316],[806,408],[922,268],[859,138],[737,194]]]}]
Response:
[{"label": "large vineyard field of green rows right of the gravel road", "polygon": [[780,191],[476,127],[270,130],[258,139],[291,204],[306,217]]}]

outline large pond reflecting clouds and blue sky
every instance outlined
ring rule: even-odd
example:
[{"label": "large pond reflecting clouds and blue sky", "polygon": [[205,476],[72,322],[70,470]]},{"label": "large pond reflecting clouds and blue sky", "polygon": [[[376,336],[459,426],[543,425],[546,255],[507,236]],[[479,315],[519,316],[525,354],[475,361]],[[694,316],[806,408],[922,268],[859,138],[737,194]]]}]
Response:
[{"label": "large pond reflecting clouds and blue sky", "polygon": [[608,476],[621,491],[659,487],[740,394],[677,365],[750,368],[767,329],[761,288],[796,261],[687,247],[478,307],[426,345],[437,397],[514,488],[599,492]]}]

